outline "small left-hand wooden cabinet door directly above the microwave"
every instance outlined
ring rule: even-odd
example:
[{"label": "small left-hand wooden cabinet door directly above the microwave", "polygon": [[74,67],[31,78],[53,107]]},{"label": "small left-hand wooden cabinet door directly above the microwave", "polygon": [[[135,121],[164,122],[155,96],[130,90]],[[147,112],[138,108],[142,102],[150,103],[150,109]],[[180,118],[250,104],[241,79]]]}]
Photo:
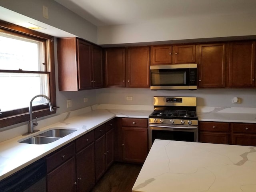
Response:
[{"label": "small left-hand wooden cabinet door directly above the microwave", "polygon": [[172,46],[152,46],[151,65],[171,64]]}]

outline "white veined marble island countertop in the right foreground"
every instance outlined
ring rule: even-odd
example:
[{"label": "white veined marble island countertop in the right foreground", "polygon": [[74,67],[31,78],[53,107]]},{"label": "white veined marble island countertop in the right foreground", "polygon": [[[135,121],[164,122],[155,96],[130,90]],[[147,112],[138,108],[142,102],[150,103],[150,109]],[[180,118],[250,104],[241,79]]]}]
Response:
[{"label": "white veined marble island countertop in the right foreground", "polygon": [[256,147],[155,140],[132,192],[255,192]]}]

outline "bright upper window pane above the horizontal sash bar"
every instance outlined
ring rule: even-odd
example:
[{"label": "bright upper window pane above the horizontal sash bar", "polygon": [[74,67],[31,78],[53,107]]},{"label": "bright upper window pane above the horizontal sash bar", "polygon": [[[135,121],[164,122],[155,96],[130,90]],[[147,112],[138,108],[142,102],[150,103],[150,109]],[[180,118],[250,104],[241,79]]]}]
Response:
[{"label": "bright upper window pane above the horizontal sash bar", "polygon": [[43,43],[0,33],[0,69],[45,71]]}]

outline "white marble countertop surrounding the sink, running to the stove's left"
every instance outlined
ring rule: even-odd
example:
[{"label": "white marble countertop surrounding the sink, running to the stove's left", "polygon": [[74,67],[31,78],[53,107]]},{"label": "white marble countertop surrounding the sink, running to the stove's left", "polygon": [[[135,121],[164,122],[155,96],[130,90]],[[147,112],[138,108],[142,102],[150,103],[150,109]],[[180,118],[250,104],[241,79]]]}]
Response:
[{"label": "white marble countertop surrounding the sink, running to the stove's left", "polygon": [[[62,117],[59,122],[40,128],[40,132],[44,132],[45,130],[56,127],[77,130],[55,142],[41,145],[18,142],[20,140],[25,140],[26,138],[38,135],[40,132],[36,132],[28,136],[18,136],[0,142],[0,180],[10,176],[18,170],[21,170],[36,160],[39,160],[58,148],[68,144],[69,142],[72,142],[76,138],[79,138],[83,134],[86,134],[94,128],[108,122],[112,118],[148,118],[148,115],[151,112],[152,110],[96,109],[76,116],[72,116],[70,113],[68,113],[68,115]],[[69,116],[72,117],[69,118]]]}]

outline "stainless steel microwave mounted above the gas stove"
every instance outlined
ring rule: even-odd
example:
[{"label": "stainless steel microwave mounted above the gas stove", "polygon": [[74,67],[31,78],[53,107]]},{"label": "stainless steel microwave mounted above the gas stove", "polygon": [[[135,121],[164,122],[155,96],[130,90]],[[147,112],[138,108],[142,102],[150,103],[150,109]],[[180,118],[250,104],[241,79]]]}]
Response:
[{"label": "stainless steel microwave mounted above the gas stove", "polygon": [[150,66],[151,90],[196,90],[197,64]]}]

